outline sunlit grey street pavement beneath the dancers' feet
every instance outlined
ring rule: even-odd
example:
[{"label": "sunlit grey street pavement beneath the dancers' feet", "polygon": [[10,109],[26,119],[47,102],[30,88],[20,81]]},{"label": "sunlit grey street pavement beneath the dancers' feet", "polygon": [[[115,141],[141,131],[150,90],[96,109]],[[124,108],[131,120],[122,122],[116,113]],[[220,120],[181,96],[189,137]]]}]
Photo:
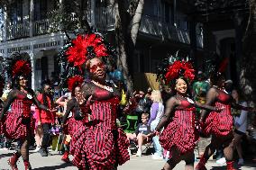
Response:
[{"label": "sunlit grey street pavement beneath the dancers' feet", "polygon": [[[0,170],[10,170],[10,166],[7,164],[8,157],[12,156],[14,150],[3,151],[0,150]],[[77,168],[71,164],[65,164],[61,160],[61,155],[58,152],[51,151],[49,157],[41,157],[39,153],[31,153],[30,160],[33,170],[76,170]],[[123,166],[119,166],[118,170],[160,170],[164,165],[164,160],[153,160],[151,156],[135,157],[133,155],[131,160],[125,163]],[[18,168],[20,170],[24,169],[22,158],[19,159]],[[196,164],[197,165],[197,162]],[[185,163],[180,162],[174,169],[181,170],[184,169]],[[207,169],[213,170],[224,170],[225,165],[217,165],[215,161],[208,161],[206,165]],[[241,170],[256,170],[256,164],[246,164],[240,168]]]}]

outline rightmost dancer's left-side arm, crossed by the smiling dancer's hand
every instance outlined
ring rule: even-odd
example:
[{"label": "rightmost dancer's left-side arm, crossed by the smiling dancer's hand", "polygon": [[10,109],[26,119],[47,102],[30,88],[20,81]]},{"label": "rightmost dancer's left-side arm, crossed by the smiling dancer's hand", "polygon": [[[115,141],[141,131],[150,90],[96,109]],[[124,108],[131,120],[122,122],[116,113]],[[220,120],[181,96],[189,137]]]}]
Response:
[{"label": "rightmost dancer's left-side arm, crossed by the smiling dancer's hand", "polygon": [[[207,92],[206,94],[206,104],[208,106],[213,105],[213,103],[215,103],[215,99],[217,96],[217,92],[215,88],[210,88],[210,90]],[[211,106],[212,107],[212,106]],[[201,112],[201,116],[200,116],[200,121],[204,121],[206,118],[206,114],[208,114],[209,110],[203,110],[203,112]]]}]

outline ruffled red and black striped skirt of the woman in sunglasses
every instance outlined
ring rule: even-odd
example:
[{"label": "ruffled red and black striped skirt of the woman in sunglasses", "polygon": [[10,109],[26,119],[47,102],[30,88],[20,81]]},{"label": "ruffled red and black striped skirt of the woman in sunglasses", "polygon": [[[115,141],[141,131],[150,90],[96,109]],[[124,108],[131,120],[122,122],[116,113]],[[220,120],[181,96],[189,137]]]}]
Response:
[{"label": "ruffled red and black striped skirt of the woman in sunglasses", "polygon": [[112,170],[130,159],[129,141],[122,129],[105,126],[81,126],[74,134],[70,154],[78,168]]}]

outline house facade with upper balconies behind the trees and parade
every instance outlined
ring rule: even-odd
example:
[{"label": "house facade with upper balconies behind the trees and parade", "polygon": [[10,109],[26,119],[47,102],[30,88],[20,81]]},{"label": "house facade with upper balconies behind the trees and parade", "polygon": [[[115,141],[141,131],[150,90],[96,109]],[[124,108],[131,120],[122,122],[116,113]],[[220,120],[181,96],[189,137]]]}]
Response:
[{"label": "house facade with upper balconies behind the trees and parade", "polygon": [[[114,8],[105,4],[102,0],[88,1],[87,21],[114,43]],[[50,0],[16,0],[12,9],[2,10],[0,56],[8,58],[14,51],[27,52],[32,59],[33,89],[41,86],[41,80],[59,75],[56,56],[67,37],[60,31],[49,33],[47,13],[56,5]],[[160,59],[178,49],[190,55],[200,53],[204,47],[203,26],[189,19],[189,10],[185,0],[145,1],[133,75],[155,73]]]}]

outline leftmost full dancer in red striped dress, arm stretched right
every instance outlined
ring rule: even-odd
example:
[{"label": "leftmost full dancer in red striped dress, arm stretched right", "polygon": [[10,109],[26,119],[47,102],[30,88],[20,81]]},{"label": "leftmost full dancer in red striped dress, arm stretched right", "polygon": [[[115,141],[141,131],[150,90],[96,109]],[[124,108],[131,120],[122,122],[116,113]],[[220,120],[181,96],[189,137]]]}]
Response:
[{"label": "leftmost full dancer in red striped dress, arm stretched right", "polygon": [[[29,142],[32,138],[31,105],[50,112],[36,98],[32,89],[27,86],[27,77],[32,72],[30,57],[27,53],[14,53],[9,59],[7,73],[13,79],[16,87],[8,94],[7,101],[0,115],[0,121],[5,122],[4,133],[8,139],[19,139],[20,148],[14,156],[8,159],[13,170],[17,169],[16,162],[23,157],[25,170],[32,169],[29,162]],[[7,112],[11,105],[11,112]],[[6,114],[5,114],[6,113]]]}]

